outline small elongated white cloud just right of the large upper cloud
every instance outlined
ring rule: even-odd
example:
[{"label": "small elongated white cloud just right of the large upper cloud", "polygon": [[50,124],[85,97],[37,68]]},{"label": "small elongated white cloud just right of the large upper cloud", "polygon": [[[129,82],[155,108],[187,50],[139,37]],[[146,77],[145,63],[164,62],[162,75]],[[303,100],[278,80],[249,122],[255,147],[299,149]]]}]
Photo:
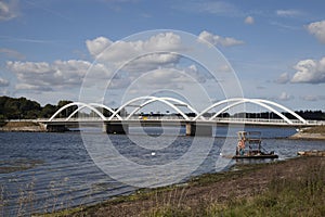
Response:
[{"label": "small elongated white cloud just right of the large upper cloud", "polygon": [[199,34],[198,40],[202,42],[209,42],[213,46],[223,46],[223,47],[238,46],[244,43],[244,41],[230,38],[230,37],[221,37],[206,30]]}]

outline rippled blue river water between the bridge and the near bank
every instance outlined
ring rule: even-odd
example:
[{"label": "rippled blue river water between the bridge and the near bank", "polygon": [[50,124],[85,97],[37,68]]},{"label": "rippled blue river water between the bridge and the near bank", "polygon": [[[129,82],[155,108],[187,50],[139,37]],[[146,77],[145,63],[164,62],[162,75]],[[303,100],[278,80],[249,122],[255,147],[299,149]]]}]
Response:
[{"label": "rippled blue river water between the bridge and the near bank", "polygon": [[[262,144],[266,150],[274,150],[280,159],[290,158],[303,150],[324,150],[324,141],[289,140],[286,137],[295,133],[290,128],[252,128],[262,132]],[[102,143],[109,138],[117,152],[138,165],[168,165],[180,161],[192,151],[192,144],[204,146],[210,143],[204,161],[168,167],[168,173],[179,173],[190,167],[192,173],[182,177],[226,169],[235,164],[229,159],[226,165],[218,163],[222,157],[222,148],[236,144],[236,128],[218,128],[212,138],[184,137],[184,129],[159,128],[131,129],[130,136],[104,135],[96,130],[87,132],[43,133],[43,132],[0,132],[0,216],[30,215],[55,209],[68,208],[80,204],[94,204],[109,197],[128,194],[136,190],[136,184],[123,180],[139,179],[144,183],[146,175],[127,166],[110,165],[114,174],[105,174],[89,154],[89,146]],[[169,130],[169,131],[168,131]],[[247,129],[251,130],[251,129]],[[167,133],[166,133],[167,132]],[[148,133],[150,136],[147,136]],[[178,136],[178,135],[181,136]],[[229,136],[227,138],[225,138]],[[96,149],[96,146],[94,146]],[[233,148],[232,148],[233,149]],[[110,157],[112,158],[112,157]],[[118,161],[118,159],[116,159]],[[199,165],[193,165],[198,164]],[[218,163],[218,164],[216,164]],[[220,167],[219,167],[220,166]],[[145,167],[146,168],[146,167]],[[132,171],[133,170],[133,174]],[[134,176],[134,173],[136,176]],[[167,173],[167,174],[168,174]],[[113,178],[112,178],[113,177]],[[117,179],[116,177],[129,177]],[[156,176],[157,178],[157,176]],[[159,186],[164,186],[164,179]],[[166,182],[168,183],[168,182]],[[150,184],[148,184],[150,186]]]}]

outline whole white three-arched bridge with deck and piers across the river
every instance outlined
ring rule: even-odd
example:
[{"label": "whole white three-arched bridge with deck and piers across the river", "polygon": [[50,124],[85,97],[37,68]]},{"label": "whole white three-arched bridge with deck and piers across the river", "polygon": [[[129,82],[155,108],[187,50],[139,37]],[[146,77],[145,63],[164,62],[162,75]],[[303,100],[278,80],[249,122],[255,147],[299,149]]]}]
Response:
[{"label": "whole white three-arched bridge with deck and piers across the river", "polygon": [[[153,115],[142,116],[139,112],[145,106],[155,102],[162,103],[174,111],[173,114],[165,115]],[[277,119],[274,118],[247,118],[245,117],[220,117],[230,108],[243,105],[243,104],[256,104],[269,112],[276,114]],[[133,107],[131,112],[126,113],[127,107]],[[62,113],[70,108],[68,115],[62,117]],[[217,110],[218,108],[218,110]],[[77,115],[83,110],[90,110],[92,115],[81,117]],[[187,112],[185,112],[186,110]],[[216,112],[217,110],[217,112]],[[290,114],[289,118],[285,116],[280,110]],[[191,114],[191,115],[190,115]],[[203,111],[197,111],[188,103],[174,98],[159,98],[159,97],[140,97],[132,99],[117,110],[113,110],[104,104],[99,103],[82,103],[73,102],[61,107],[53,116],[49,119],[39,120],[46,124],[49,128],[55,130],[55,126],[67,126],[73,124],[100,124],[104,123],[104,129],[107,132],[127,132],[130,125],[141,126],[186,126],[186,133],[193,135],[194,131],[198,130],[197,126],[208,131],[212,126],[220,124],[231,125],[259,125],[259,126],[289,126],[289,127],[303,127],[303,126],[315,126],[323,125],[324,122],[306,120],[294,111],[281,105],[278,103],[262,100],[262,99],[246,99],[246,98],[233,98],[226,99],[211,104]],[[123,126],[122,126],[123,125]],[[127,126],[127,129],[126,129]],[[188,128],[188,129],[187,129]],[[204,131],[203,130],[203,131]]]}]

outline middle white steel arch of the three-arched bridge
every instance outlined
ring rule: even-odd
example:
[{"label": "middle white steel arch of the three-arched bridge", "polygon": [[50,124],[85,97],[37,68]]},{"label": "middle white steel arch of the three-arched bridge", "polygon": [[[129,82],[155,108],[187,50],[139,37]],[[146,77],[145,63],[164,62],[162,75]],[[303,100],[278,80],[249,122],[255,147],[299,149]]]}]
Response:
[{"label": "middle white steel arch of the three-arched bridge", "polygon": [[[178,113],[180,113],[182,115],[182,117],[184,117],[184,119],[186,120],[190,120],[190,117],[187,115],[185,115],[180,108],[178,108],[174,104],[168,102],[166,99],[162,99],[162,98],[157,98],[157,97],[150,97],[150,95],[145,95],[145,97],[139,97],[139,98],[134,98],[128,102],[126,102],[125,104],[122,104],[117,111],[115,111],[115,113],[113,113],[113,115],[108,118],[108,120],[112,120],[122,108],[125,108],[126,106],[130,105],[131,103],[133,102],[136,102],[136,101],[141,101],[141,100],[148,100],[151,102],[148,103],[152,103],[152,102],[155,102],[155,101],[159,101],[159,102],[162,102],[167,105],[169,105],[170,107],[174,108]],[[146,104],[148,104],[146,103]],[[140,110],[141,107],[139,107]],[[136,108],[135,108],[136,110]],[[133,113],[134,114],[134,113]],[[130,115],[129,115],[130,116]],[[128,116],[128,117],[129,117]],[[127,117],[127,119],[128,119]]]}]

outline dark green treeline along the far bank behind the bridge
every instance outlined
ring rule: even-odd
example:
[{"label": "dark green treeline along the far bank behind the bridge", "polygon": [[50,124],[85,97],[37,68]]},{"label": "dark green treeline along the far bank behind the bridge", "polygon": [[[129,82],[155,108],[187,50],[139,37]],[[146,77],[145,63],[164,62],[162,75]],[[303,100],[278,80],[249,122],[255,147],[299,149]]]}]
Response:
[{"label": "dark green treeline along the far bank behind the bridge", "polygon": [[[10,97],[0,97],[0,120],[4,119],[36,119],[36,118],[50,118],[60,107],[70,103],[68,100],[61,100],[56,105],[47,104],[41,106],[38,102],[27,100],[26,98],[10,98]],[[62,116],[68,116],[72,114],[77,106],[68,107],[61,114]],[[102,108],[99,108],[102,111]],[[103,114],[108,117],[112,115],[110,112],[104,110]],[[126,111],[121,111],[123,116],[126,115]],[[322,111],[296,111],[298,115],[303,117],[304,119],[315,119],[315,120],[325,120],[325,112]],[[120,113],[119,113],[120,114]],[[207,113],[204,116],[212,116],[214,113]],[[289,119],[295,119],[295,117],[289,113],[282,113],[287,116]],[[83,113],[84,116],[93,116],[95,115],[93,112],[90,114]],[[154,114],[141,113],[142,116],[165,116],[165,115],[179,115],[179,114]],[[194,113],[187,114],[190,117],[194,117]],[[262,113],[237,113],[230,115],[229,113],[222,113],[219,117],[246,117],[246,118],[266,118],[266,119],[280,119],[275,113],[273,112],[262,112]]]}]

